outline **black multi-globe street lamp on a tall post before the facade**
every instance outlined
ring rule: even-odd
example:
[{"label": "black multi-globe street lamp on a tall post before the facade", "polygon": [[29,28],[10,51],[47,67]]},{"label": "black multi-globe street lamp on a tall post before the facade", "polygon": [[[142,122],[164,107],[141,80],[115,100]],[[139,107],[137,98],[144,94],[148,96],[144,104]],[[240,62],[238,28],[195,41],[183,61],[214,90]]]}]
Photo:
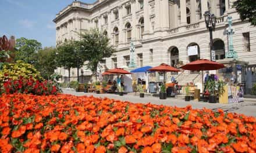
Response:
[{"label": "black multi-globe street lamp on a tall post before the facade", "polygon": [[211,60],[212,60],[212,31],[215,30],[215,25],[216,25],[216,16],[214,14],[211,14],[211,12],[206,11],[204,13],[204,19],[205,19],[205,24],[206,27],[208,28],[210,32],[210,53],[211,53]]}]

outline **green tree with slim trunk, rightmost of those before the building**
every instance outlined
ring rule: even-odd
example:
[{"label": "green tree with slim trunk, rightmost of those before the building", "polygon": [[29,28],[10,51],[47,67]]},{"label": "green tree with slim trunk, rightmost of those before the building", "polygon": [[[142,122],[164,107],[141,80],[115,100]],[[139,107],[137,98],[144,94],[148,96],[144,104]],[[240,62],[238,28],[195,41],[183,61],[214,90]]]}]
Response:
[{"label": "green tree with slim trunk, rightmost of those before the building", "polygon": [[98,29],[91,29],[80,35],[80,49],[84,60],[88,61],[87,68],[90,69],[97,80],[98,64],[105,57],[111,57],[115,52],[113,46],[109,45],[109,38]]}]

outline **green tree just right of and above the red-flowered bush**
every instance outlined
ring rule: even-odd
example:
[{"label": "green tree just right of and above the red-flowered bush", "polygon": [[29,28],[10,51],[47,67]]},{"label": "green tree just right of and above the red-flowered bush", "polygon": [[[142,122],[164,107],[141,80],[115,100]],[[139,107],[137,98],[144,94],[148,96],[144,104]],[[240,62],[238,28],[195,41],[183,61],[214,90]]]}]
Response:
[{"label": "green tree just right of and above the red-flowered bush", "polygon": [[49,79],[54,70],[57,68],[56,61],[56,48],[44,48],[34,53],[33,59],[36,61],[35,68],[40,71],[41,76],[45,79]]}]

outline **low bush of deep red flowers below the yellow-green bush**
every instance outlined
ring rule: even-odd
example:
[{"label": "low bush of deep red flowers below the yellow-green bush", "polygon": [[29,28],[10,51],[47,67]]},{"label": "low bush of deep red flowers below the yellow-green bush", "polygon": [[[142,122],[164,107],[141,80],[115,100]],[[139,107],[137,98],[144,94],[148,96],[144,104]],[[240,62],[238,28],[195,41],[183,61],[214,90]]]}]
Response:
[{"label": "low bush of deep red flowers below the yellow-green bush", "polygon": [[25,79],[8,79],[3,83],[1,93],[32,93],[35,95],[49,95],[61,92],[58,86],[52,81],[35,81],[32,77]]}]

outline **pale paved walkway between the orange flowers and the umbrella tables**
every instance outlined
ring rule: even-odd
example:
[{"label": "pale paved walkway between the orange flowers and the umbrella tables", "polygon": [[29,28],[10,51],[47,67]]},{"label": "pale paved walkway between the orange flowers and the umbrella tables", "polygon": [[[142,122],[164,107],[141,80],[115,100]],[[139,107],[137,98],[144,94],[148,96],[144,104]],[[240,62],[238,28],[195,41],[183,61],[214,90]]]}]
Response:
[{"label": "pale paved walkway between the orange flowers and the umbrella tables", "polygon": [[130,101],[132,103],[151,103],[157,105],[171,105],[177,107],[186,107],[187,105],[192,105],[193,108],[209,108],[211,110],[222,109],[227,112],[236,112],[239,114],[245,114],[248,116],[256,116],[256,103],[250,100],[245,100],[242,103],[233,103],[233,104],[211,104],[205,102],[195,102],[195,101],[184,101],[183,99],[178,98],[168,98],[166,100],[160,100],[159,97],[144,97],[140,98],[135,95],[119,96],[118,94],[96,94],[96,93],[83,93],[83,92],[72,92],[69,90],[63,90],[65,94],[73,94],[75,96],[94,96],[94,97],[108,97],[109,99],[118,99],[122,101]]}]

